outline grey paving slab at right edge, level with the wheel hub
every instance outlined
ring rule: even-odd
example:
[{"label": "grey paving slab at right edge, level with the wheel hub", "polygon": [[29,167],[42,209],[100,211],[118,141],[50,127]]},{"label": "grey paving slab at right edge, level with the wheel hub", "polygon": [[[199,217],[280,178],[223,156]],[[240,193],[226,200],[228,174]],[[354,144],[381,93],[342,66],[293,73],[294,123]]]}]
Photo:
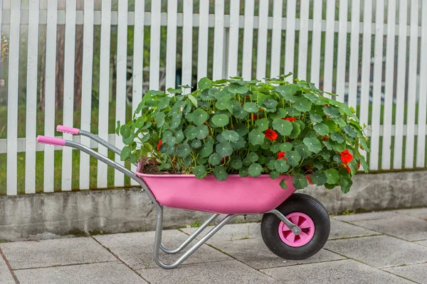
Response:
[{"label": "grey paving slab at right edge, level with the wheel hub", "polygon": [[387,219],[352,222],[367,229],[381,231],[381,233],[396,236],[408,241],[427,239],[427,220],[405,215],[394,216]]}]

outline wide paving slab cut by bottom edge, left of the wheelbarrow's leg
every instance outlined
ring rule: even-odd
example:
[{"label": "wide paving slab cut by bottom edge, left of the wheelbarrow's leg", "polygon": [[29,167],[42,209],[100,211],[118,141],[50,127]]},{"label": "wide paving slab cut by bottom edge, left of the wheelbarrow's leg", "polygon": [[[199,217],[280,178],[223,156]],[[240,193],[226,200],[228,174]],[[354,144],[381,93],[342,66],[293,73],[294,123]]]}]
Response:
[{"label": "wide paving slab cut by bottom edge, left of the wheelbarrow's leg", "polygon": [[15,271],[21,284],[147,283],[119,261]]}]

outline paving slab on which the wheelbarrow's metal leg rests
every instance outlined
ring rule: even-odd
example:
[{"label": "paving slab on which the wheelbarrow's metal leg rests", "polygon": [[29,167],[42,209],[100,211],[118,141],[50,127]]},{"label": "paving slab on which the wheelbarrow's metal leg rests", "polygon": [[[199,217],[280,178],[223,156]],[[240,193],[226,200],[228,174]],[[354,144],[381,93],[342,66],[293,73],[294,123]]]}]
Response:
[{"label": "paving slab on which the wheelbarrow's metal leg rests", "polygon": [[[147,231],[130,234],[100,235],[95,236],[95,239],[134,269],[154,268],[157,267],[153,261],[154,234],[154,231]],[[163,244],[168,249],[175,249],[188,238],[186,234],[178,230],[163,231],[162,236]],[[195,243],[196,241],[193,241],[188,247]],[[181,255],[182,253],[172,256],[162,253],[160,259],[164,263],[172,263]],[[184,263],[203,263],[229,259],[231,259],[229,256],[205,244],[184,261]]]}]

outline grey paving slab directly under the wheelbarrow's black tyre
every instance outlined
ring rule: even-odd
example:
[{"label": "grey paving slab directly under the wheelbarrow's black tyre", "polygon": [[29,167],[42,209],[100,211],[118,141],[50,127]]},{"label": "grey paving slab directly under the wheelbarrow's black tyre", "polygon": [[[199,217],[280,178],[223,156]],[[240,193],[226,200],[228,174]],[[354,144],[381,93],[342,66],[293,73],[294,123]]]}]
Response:
[{"label": "grey paving slab directly under the wheelbarrow's black tyre", "polygon": [[332,261],[344,257],[326,250],[320,250],[314,256],[301,261],[285,260],[272,253],[265,246],[262,239],[244,239],[239,241],[217,241],[212,244],[217,249],[233,256],[238,261],[246,263],[255,269],[272,268],[278,266],[292,266],[300,263]]}]

